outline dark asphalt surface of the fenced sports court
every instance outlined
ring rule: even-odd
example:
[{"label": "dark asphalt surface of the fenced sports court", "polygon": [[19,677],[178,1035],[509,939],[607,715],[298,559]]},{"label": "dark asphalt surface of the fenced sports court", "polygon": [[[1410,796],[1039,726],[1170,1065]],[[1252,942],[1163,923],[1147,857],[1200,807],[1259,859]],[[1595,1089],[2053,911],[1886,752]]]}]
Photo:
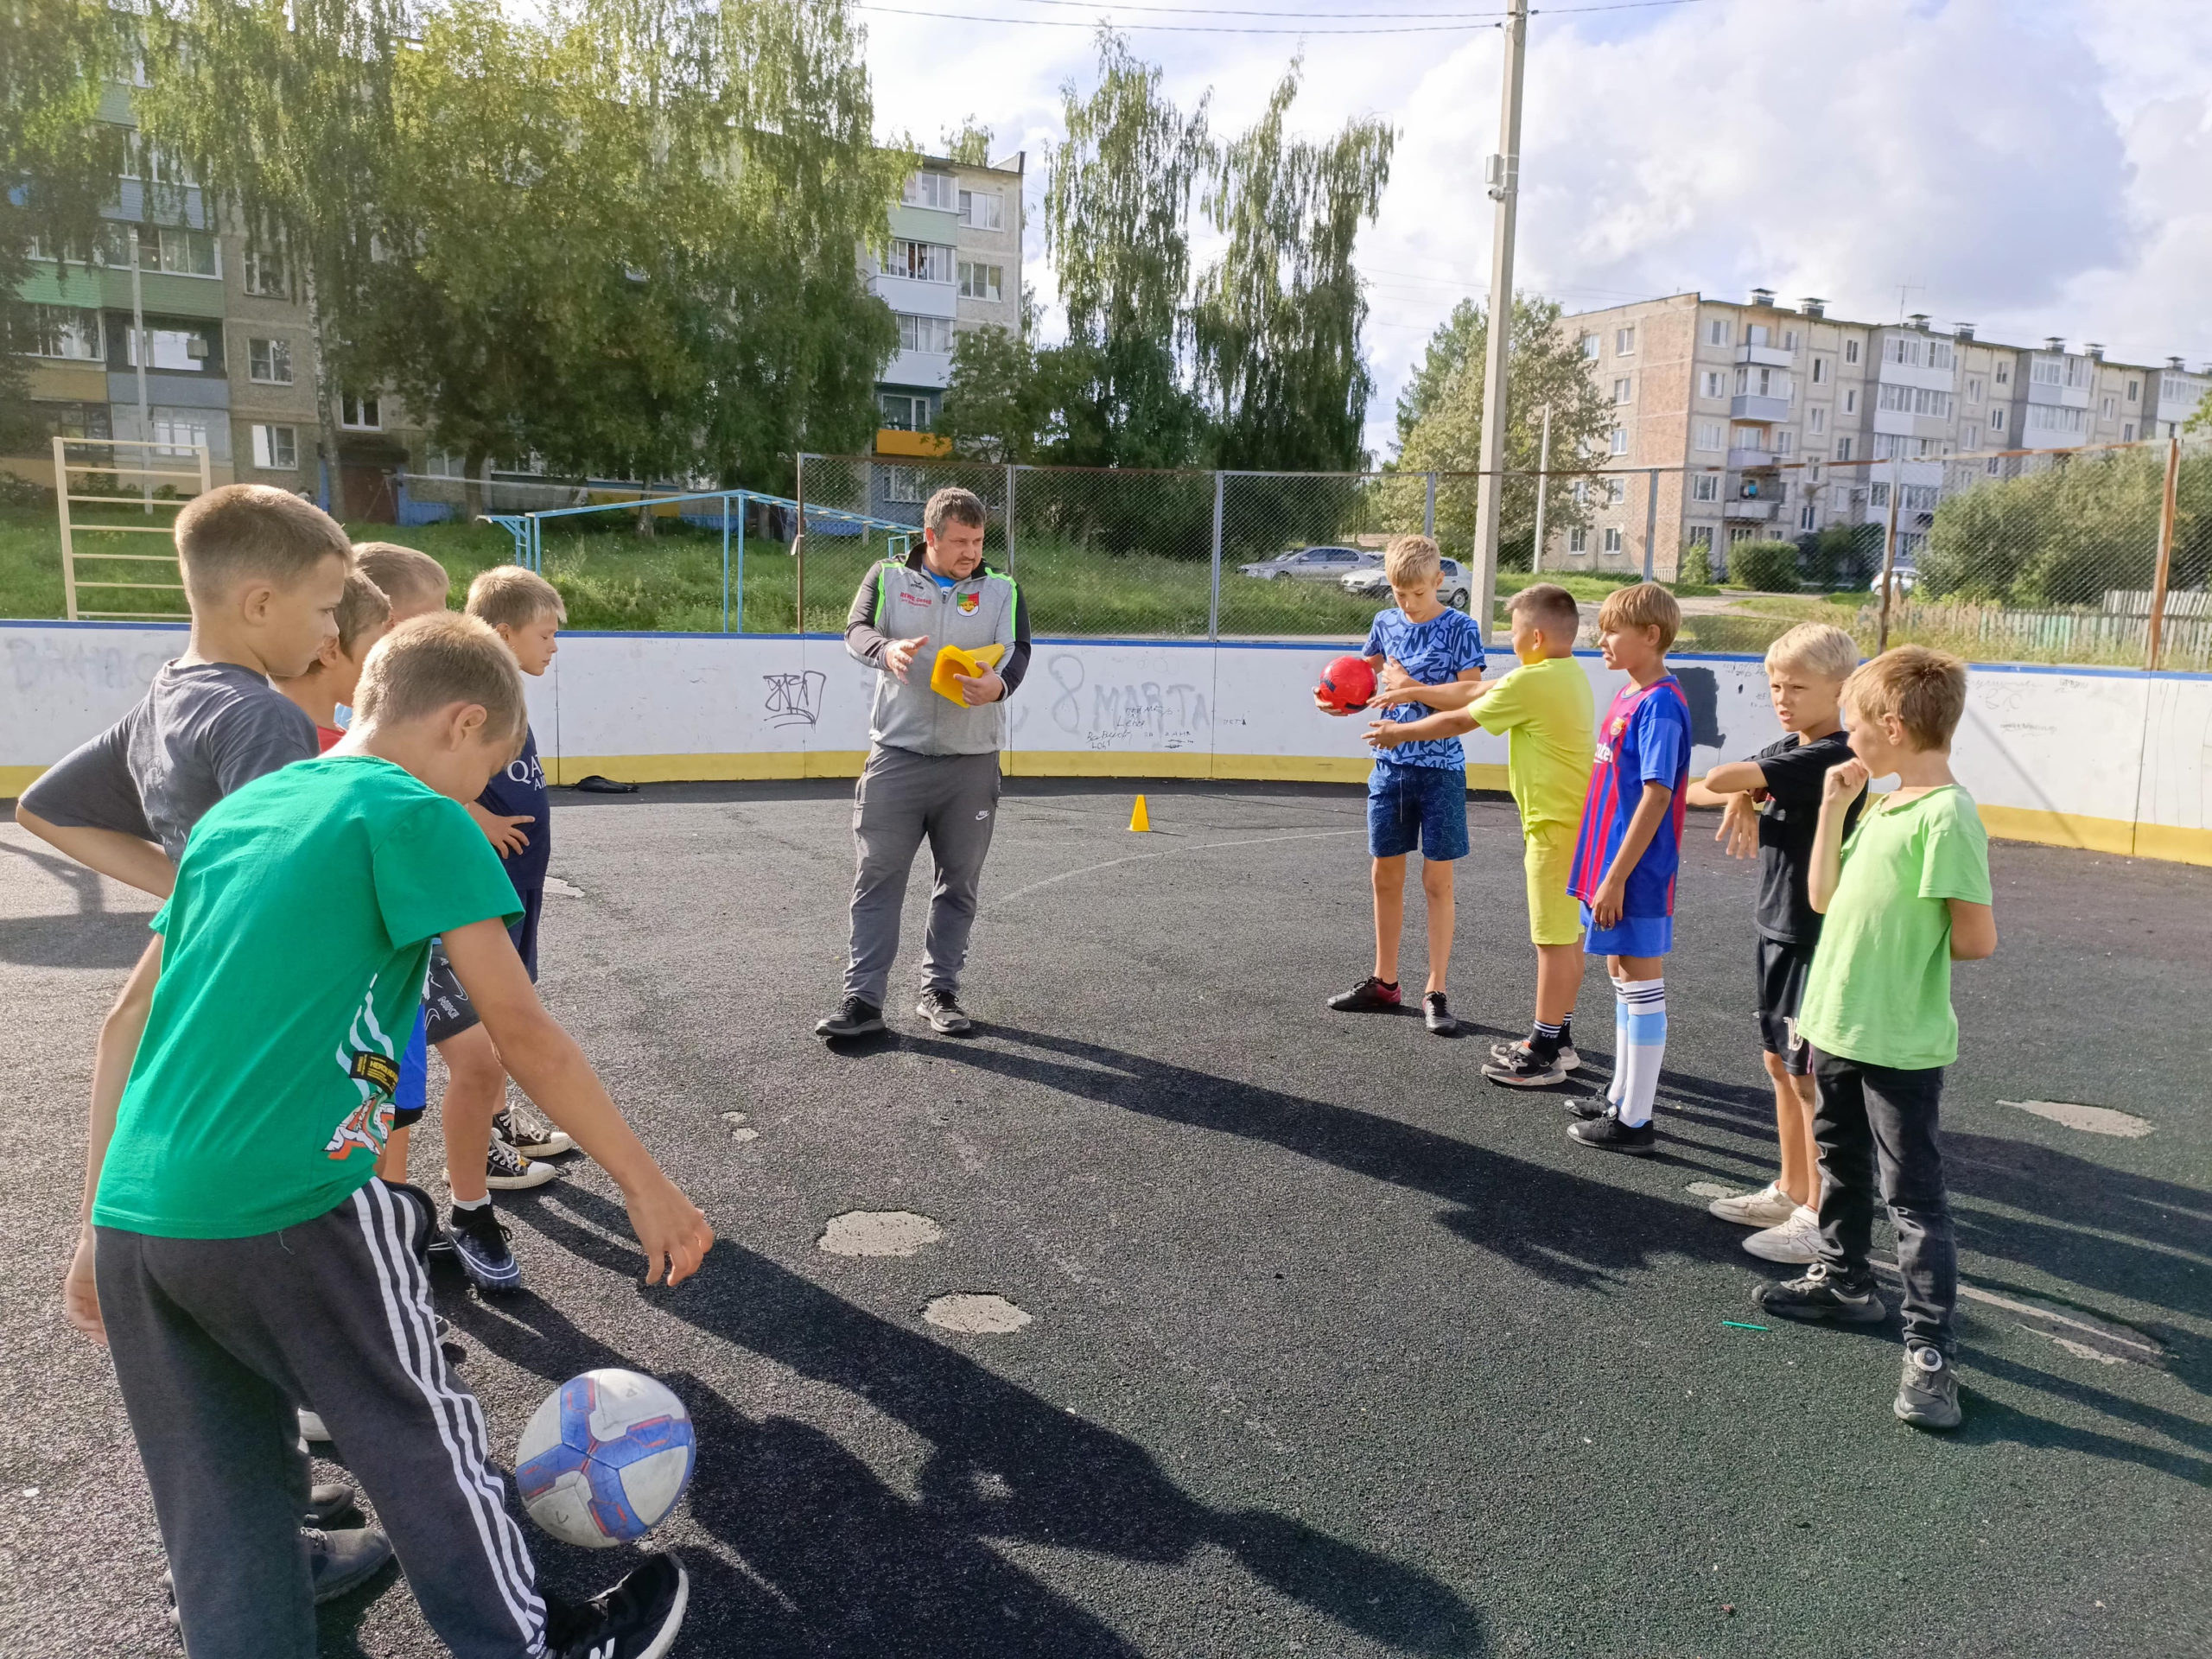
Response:
[{"label": "dark asphalt surface of the fenced sports court", "polygon": [[[692,1573],[681,1655],[2212,1650],[2212,869],[1993,849],[2002,945],[1958,973],[1944,1099],[1966,1427],[1933,1438],[1889,1413],[1896,1323],[1772,1323],[1761,1263],[1688,1188],[1763,1181],[1772,1108],[1752,869],[1710,814],[1661,1152],[1626,1159],[1478,1075],[1533,978],[1509,805],[1471,810],[1451,1042],[1323,1011],[1367,967],[1356,790],[1148,794],[1133,836],[1128,787],[1011,785],[964,984],[982,1029],[922,1035],[907,989],[896,1035],[849,1053],[810,1035],[847,785],[557,796],[575,891],[549,900],[544,998],[721,1243],[644,1290],[611,1183],[571,1168],[502,1194],[526,1294],[440,1305],[502,1453],[584,1367],[690,1405],[699,1475],[655,1540]],[[909,949],[922,874],[911,898]],[[106,1358],[55,1296],[93,1033],[148,909],[0,825],[11,1657],[177,1650]],[[1593,1084],[1608,1004],[1593,973]],[[2150,1133],[2000,1104],[2026,1099]],[[823,1252],[849,1210],[945,1237]],[[949,1292],[1033,1323],[938,1329]],[[533,1537],[560,1590],[624,1562]],[[323,1652],[440,1648],[385,1577],[323,1610]]]}]

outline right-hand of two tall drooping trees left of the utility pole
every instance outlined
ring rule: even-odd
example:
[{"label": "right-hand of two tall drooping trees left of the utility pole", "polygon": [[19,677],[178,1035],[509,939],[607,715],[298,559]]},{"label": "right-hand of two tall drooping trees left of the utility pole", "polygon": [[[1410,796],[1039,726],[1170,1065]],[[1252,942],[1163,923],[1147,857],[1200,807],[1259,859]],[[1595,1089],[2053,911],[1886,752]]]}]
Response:
[{"label": "right-hand of two tall drooping trees left of the utility pole", "polygon": [[1298,97],[1290,66],[1259,124],[1221,150],[1201,210],[1228,237],[1199,279],[1192,341],[1214,465],[1349,471],[1374,383],[1352,252],[1389,181],[1391,131],[1349,122],[1325,144],[1283,133]]}]

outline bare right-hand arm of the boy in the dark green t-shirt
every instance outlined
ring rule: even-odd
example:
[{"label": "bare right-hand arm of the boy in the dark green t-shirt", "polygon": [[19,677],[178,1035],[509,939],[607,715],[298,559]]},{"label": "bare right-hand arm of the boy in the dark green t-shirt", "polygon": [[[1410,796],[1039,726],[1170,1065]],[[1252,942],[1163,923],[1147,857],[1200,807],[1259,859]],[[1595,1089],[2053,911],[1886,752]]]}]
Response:
[{"label": "bare right-hand arm of the boy in the dark green t-shirt", "polygon": [[458,927],[445,936],[445,956],[498,1044],[507,1073],[622,1188],[630,1232],[646,1248],[646,1283],[661,1283],[664,1270],[670,1285],[699,1272],[699,1261],[714,1243],[714,1228],[661,1175],[615,1110],[575,1037],[544,1011],[507,927],[495,916]]}]

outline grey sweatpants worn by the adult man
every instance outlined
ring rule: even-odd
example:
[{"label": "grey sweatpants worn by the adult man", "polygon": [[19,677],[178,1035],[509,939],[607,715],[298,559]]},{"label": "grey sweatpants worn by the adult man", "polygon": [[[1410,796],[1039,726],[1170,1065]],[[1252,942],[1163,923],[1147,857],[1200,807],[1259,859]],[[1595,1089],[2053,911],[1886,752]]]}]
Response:
[{"label": "grey sweatpants worn by the adult man", "polygon": [[975,885],[998,823],[998,752],[914,754],[878,743],[852,799],[860,872],[852,885],[852,962],[845,995],[883,1006],[898,956],[898,911],[914,854],[929,836],[936,887],[922,987],[956,991],[975,927]]}]

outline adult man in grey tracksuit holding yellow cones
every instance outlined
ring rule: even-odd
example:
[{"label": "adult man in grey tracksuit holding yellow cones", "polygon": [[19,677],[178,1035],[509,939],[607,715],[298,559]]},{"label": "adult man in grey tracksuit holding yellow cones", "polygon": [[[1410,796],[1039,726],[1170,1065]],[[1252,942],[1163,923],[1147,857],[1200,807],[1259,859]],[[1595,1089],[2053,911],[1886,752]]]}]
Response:
[{"label": "adult man in grey tracksuit holding yellow cones", "polygon": [[[1029,611],[1013,577],[982,562],[984,507],[940,489],[922,509],[922,546],[867,573],[845,617],[845,648],[878,670],[869,754],[854,794],[860,874],[852,887],[852,960],[843,1006],[818,1037],[883,1031],[898,956],[898,911],[914,854],[929,836],[936,887],[916,1006],[940,1033],[969,1029],[956,993],[975,925],[975,885],[998,823],[1000,708],[1029,672]],[[1004,646],[995,668],[953,679],[960,701],[929,688],[938,650]]]}]

